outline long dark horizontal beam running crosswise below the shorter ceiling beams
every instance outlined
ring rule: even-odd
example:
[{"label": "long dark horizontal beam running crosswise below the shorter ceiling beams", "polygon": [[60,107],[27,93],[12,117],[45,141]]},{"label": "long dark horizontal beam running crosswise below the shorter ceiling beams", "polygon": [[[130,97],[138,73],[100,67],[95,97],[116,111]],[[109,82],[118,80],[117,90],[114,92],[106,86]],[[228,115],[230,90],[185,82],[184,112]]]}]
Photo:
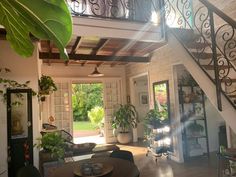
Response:
[{"label": "long dark horizontal beam running crosswise below the shorter ceiling beams", "polygon": [[[85,54],[68,54],[71,60],[88,60],[88,61],[119,61],[119,62],[140,62],[147,63],[150,57],[137,57],[137,56],[104,56],[104,55],[85,55]],[[49,55],[47,52],[39,53],[40,59],[59,59],[59,53],[52,53]]]}]

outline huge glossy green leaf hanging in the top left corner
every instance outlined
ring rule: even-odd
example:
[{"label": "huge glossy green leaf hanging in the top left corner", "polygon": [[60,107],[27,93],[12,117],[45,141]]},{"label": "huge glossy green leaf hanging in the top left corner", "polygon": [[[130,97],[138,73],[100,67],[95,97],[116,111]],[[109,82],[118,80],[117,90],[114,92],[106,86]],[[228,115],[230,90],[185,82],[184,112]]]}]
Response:
[{"label": "huge glossy green leaf hanging in the top left corner", "polygon": [[61,58],[68,59],[65,46],[72,35],[72,19],[64,0],[1,0],[0,25],[18,54],[32,55],[31,33],[38,39],[52,40]]}]

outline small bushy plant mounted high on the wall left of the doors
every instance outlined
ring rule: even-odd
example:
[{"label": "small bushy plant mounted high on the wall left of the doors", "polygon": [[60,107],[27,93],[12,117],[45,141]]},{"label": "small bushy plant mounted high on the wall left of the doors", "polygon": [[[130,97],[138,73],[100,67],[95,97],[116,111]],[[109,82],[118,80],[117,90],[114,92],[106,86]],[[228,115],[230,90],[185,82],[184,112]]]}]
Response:
[{"label": "small bushy plant mounted high on the wall left of the doors", "polygon": [[45,95],[49,95],[53,91],[57,91],[56,84],[50,76],[42,75],[38,81],[39,96],[41,101],[45,100]]}]

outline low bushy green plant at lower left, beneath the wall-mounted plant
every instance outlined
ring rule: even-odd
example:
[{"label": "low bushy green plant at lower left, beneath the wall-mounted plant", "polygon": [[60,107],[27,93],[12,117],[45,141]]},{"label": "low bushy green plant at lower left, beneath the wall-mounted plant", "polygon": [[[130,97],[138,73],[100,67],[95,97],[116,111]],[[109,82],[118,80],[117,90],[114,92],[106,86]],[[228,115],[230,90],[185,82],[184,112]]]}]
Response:
[{"label": "low bushy green plant at lower left, beneath the wall-mounted plant", "polygon": [[53,161],[63,159],[67,144],[59,132],[50,132],[38,138],[38,143],[35,146],[43,149],[43,152],[49,154],[48,158]]}]

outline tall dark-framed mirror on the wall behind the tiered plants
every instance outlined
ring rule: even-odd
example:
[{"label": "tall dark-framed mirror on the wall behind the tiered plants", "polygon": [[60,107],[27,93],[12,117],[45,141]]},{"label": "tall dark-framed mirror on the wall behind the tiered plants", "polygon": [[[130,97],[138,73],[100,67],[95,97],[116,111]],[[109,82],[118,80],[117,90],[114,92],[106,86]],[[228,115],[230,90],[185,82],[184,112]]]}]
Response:
[{"label": "tall dark-framed mirror on the wall behind the tiered plants", "polygon": [[164,119],[170,123],[170,101],[168,80],[153,83],[154,106],[159,111],[164,112]]}]

